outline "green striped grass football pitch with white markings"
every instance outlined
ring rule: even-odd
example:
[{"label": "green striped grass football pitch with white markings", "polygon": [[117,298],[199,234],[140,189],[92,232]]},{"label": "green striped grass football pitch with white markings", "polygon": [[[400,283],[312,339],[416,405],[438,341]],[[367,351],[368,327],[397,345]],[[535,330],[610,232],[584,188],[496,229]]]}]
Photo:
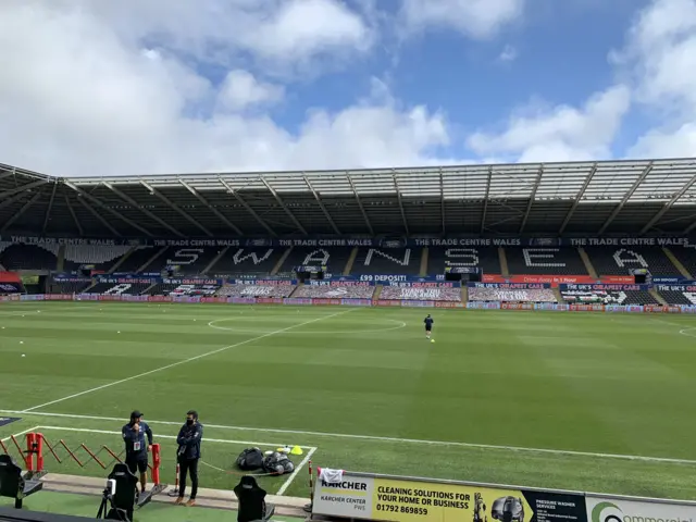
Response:
[{"label": "green striped grass football pitch with white markings", "polygon": [[[435,343],[423,332],[435,318]],[[249,446],[298,445],[356,471],[696,498],[696,320],[515,311],[2,303],[0,438],[121,450],[140,409],[174,480],[187,410],[201,486],[232,488]],[[84,449],[58,473],[105,476]],[[108,462],[105,453],[100,459]],[[104,463],[105,463],[104,462]]]}]

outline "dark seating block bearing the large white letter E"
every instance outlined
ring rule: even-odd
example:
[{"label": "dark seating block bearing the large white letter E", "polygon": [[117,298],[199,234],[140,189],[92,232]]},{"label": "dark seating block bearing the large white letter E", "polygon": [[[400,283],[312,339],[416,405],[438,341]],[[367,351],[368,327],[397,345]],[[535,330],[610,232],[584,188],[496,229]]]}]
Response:
[{"label": "dark seating block bearing the large white letter E", "polygon": [[576,248],[506,248],[510,275],[587,275]]}]

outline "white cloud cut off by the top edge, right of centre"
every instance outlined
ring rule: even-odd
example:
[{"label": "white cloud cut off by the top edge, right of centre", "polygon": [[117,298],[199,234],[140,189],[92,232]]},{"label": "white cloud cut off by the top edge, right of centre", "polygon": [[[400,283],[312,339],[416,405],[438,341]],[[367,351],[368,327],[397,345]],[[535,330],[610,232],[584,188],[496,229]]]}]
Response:
[{"label": "white cloud cut off by the top edge, right of centre", "polygon": [[489,38],[522,15],[525,0],[402,0],[410,30],[449,27],[471,38]]}]

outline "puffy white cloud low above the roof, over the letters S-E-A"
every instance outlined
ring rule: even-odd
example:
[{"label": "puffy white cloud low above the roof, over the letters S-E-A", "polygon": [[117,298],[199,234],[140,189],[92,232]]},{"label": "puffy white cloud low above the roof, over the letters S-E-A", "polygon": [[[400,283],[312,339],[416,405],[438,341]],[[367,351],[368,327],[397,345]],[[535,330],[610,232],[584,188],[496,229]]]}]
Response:
[{"label": "puffy white cloud low above the roof, over the letters S-E-A", "polygon": [[629,107],[630,91],[619,85],[593,96],[582,109],[529,108],[527,114],[513,115],[502,133],[477,132],[468,146],[477,154],[506,154],[522,162],[609,158]]}]

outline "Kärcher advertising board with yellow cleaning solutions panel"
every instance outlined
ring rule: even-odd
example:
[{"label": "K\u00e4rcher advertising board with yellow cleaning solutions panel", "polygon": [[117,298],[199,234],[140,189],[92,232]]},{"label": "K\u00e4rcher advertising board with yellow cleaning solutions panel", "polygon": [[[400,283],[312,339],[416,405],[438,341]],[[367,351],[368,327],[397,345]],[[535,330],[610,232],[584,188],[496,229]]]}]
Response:
[{"label": "K\u00e4rcher advertising board with yellow cleaning solutions panel", "polygon": [[312,514],[395,522],[587,522],[585,499],[577,494],[345,472],[338,482],[316,482]]}]

